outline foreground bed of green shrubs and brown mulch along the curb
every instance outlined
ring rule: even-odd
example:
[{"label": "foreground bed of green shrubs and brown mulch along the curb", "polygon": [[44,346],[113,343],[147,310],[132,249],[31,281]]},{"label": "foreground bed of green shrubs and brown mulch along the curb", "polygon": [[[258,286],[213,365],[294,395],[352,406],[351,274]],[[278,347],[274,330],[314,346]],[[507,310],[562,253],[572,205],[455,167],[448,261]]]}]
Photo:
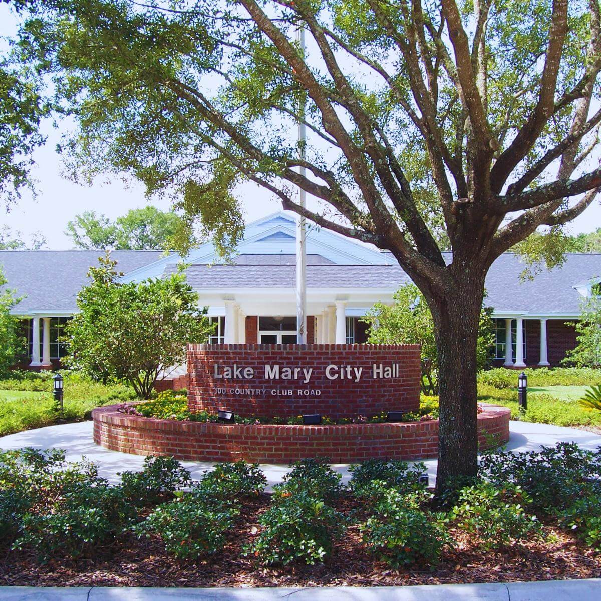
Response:
[{"label": "foreground bed of green shrubs and brown mulch along the curb", "polygon": [[[257,465],[200,480],[148,457],[121,482],[59,450],[0,453],[4,585],[319,586],[601,575],[599,453],[560,443],[482,457],[441,498],[423,463],[298,462],[273,493]],[[185,489],[185,491],[183,490]]]}]

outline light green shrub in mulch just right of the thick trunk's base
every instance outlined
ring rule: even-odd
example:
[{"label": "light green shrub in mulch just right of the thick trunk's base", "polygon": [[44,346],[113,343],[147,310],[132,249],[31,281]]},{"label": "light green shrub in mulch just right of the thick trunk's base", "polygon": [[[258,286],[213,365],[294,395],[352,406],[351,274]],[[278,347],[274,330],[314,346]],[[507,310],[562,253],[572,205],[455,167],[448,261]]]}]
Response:
[{"label": "light green shrub in mulch just right of the thick trunk's base", "polygon": [[498,549],[540,536],[540,523],[535,516],[526,514],[522,506],[530,501],[515,484],[505,484],[501,488],[480,482],[460,491],[449,519],[458,528],[477,536],[481,548]]}]

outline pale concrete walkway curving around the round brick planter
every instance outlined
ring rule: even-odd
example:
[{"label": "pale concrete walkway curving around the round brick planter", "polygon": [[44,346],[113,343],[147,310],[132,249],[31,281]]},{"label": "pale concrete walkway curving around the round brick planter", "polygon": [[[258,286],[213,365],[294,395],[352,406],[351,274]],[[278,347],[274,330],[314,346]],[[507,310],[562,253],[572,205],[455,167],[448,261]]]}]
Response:
[{"label": "pale concrete walkway curving around the round brick planter", "polygon": [[[516,452],[538,450],[543,445],[551,446],[560,441],[577,442],[582,448],[589,450],[596,450],[601,447],[601,435],[575,428],[511,421],[510,433],[507,446],[510,450]],[[82,456],[85,456],[99,465],[99,472],[102,477],[113,483],[119,481],[118,472],[139,470],[142,467],[142,462],[144,462],[142,456],[109,451],[94,444],[91,421],[47,426],[46,428],[26,430],[25,432],[0,438],[0,448],[2,449],[21,447],[62,448],[66,450],[67,460],[69,461],[78,461]],[[424,463],[426,463],[430,475],[430,486],[433,486],[436,477],[436,460],[429,459]],[[182,462],[182,464],[191,471],[194,479],[200,478],[204,471],[211,469],[213,466],[212,463],[189,461]],[[332,467],[343,475],[343,482],[349,480],[347,465],[340,464]],[[288,467],[285,465],[263,465],[262,468],[270,486],[281,481],[282,476],[288,471]],[[601,599],[601,595],[599,598]]]}]

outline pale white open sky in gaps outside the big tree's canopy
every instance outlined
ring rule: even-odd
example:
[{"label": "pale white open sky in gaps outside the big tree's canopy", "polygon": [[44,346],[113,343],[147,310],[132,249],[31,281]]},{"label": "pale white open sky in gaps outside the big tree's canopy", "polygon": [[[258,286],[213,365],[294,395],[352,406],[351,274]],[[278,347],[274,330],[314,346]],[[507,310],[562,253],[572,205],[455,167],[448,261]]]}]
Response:
[{"label": "pale white open sky in gaps outside the big tree's canopy", "polygon": [[[0,36],[10,36],[16,31],[16,20],[7,5],[0,4]],[[5,44],[5,42],[4,42]],[[0,44],[0,46],[4,46]],[[0,213],[0,227],[8,225],[23,234],[29,241],[31,234],[40,231],[47,240],[47,248],[69,249],[72,243],[64,234],[67,222],[78,213],[94,210],[115,219],[130,209],[154,204],[161,210],[169,209],[169,201],[148,201],[144,189],[138,183],[129,188],[112,177],[98,178],[93,186],[81,186],[61,176],[61,157],[55,152],[61,132],[49,124],[43,125],[43,133],[48,136],[44,147],[35,151],[35,167],[32,175],[37,180],[37,198],[27,191],[8,212]],[[278,200],[270,192],[248,184],[237,191],[242,198],[246,221],[254,221],[261,216],[281,209]],[[311,201],[308,199],[311,206]],[[311,207],[312,208],[312,207]],[[594,231],[601,227],[601,204],[597,200],[570,226],[572,233]]]}]

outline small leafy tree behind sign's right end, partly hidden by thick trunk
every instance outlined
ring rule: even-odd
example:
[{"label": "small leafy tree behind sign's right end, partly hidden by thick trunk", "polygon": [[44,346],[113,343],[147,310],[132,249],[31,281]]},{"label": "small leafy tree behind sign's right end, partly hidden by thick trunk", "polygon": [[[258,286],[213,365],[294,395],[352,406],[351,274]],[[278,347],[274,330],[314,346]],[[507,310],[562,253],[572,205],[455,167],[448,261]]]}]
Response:
[{"label": "small leafy tree behind sign's right end, partly hidden by thick trunk", "polygon": [[[438,394],[438,351],[432,313],[418,287],[406,284],[392,297],[393,304],[377,302],[365,314],[370,325],[368,342],[373,344],[420,344],[421,389],[424,394]],[[483,307],[478,328],[478,369],[486,367],[493,344],[492,307]]]}]

